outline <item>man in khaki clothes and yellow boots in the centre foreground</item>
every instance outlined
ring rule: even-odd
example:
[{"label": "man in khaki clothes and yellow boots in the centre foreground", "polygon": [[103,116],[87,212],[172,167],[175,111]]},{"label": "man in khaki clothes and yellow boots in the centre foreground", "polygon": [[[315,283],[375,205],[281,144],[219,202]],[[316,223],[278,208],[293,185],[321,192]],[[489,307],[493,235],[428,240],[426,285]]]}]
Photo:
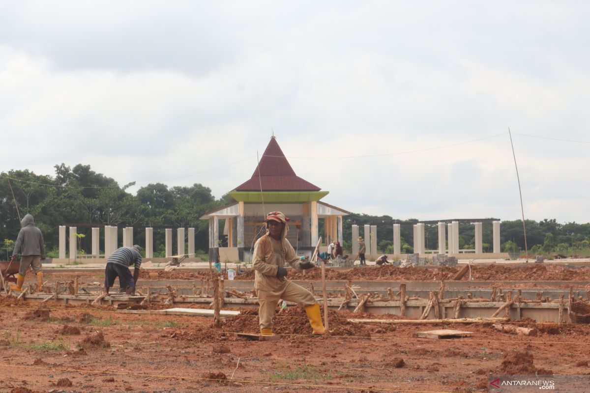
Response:
[{"label": "man in khaki clothes and yellow boots in the centre foreground", "polygon": [[258,295],[260,309],[260,333],[273,334],[273,315],[279,299],[297,303],[305,308],[307,318],[313,328],[313,334],[323,334],[320,305],[309,290],[287,280],[285,263],[296,270],[311,269],[312,262],[302,261],[295,255],[293,246],[286,239],[289,218],[281,212],[268,213],[266,217],[266,235],[254,245],[254,289]]}]

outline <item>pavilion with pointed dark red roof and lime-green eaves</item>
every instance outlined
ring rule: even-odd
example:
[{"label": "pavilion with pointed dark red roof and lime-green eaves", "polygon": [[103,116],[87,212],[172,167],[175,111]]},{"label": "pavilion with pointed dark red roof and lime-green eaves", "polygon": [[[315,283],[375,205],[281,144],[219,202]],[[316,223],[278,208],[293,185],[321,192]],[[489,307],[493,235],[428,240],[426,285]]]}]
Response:
[{"label": "pavilion with pointed dark red roof and lime-green eaves", "polygon": [[[320,202],[328,193],[297,176],[277,139],[271,137],[252,177],[230,191],[234,202],[201,216],[209,220],[210,260],[250,260],[255,240],[266,233],[266,213],[273,210],[290,218],[287,239],[300,255],[309,255],[316,246],[319,220],[324,222],[322,242],[342,244],[342,217],[349,212]],[[225,240],[218,240],[219,220],[224,220]]]}]

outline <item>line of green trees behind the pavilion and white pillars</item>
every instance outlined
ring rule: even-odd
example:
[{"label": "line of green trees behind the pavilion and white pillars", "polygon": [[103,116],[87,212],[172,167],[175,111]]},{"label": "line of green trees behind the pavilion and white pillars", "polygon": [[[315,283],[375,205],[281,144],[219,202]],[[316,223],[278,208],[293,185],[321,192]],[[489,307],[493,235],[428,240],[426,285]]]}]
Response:
[{"label": "line of green trees behind the pavilion and white pillars", "polygon": [[[120,185],[110,177],[96,173],[89,165],[55,165],[55,175],[38,175],[29,170],[10,170],[0,174],[0,239],[5,239],[4,252],[9,252],[11,240],[20,229],[16,200],[21,217],[30,213],[44,233],[50,256],[57,256],[58,226],[77,226],[82,253],[90,253],[90,229],[93,226],[114,225],[119,228],[132,226],[134,239],[143,244],[145,227],[154,228],[155,256],[164,255],[165,228],[194,227],[195,247],[201,253],[208,250],[208,222],[199,220],[208,210],[230,202],[227,196],[215,199],[211,189],[202,184],[191,187],[168,187],[153,183],[140,187],[135,195],[127,191],[135,182]],[[13,180],[9,180],[13,179]],[[11,189],[12,187],[12,189]],[[13,197],[14,194],[14,197]],[[401,224],[402,253],[413,252],[412,225],[418,219],[399,220],[391,216],[370,216],[351,213],[343,217],[344,248],[352,247],[352,224],[358,224],[360,235],[364,224],[377,226],[378,250],[392,253],[393,224]],[[529,253],[558,252],[566,255],[586,255],[590,247],[590,223],[558,223],[555,219],[526,220]],[[460,249],[474,249],[474,227],[460,223]],[[219,240],[223,242],[220,230]],[[323,233],[320,220],[319,232]],[[483,250],[491,252],[491,223],[483,223]],[[101,231],[101,236],[104,236]],[[119,237],[120,239],[120,237]],[[425,226],[425,247],[438,248],[438,228]],[[522,220],[502,221],[500,227],[501,249],[519,252],[525,249]],[[101,244],[103,238],[101,237]],[[585,254],[586,251],[586,254]]]}]

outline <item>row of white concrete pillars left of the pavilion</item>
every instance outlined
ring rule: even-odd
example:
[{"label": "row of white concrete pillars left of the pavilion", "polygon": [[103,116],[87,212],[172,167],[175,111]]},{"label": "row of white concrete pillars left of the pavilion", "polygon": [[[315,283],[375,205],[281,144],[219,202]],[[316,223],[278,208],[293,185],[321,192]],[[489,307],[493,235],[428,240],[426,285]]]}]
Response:
[{"label": "row of white concrete pillars left of the pavilion", "polygon": [[[60,226],[59,229],[60,234],[60,241],[59,247],[60,258],[65,259],[65,226]],[[109,257],[114,250],[119,248],[119,240],[118,240],[118,228],[116,226],[105,225],[104,226],[104,257]],[[133,246],[133,227],[125,227],[122,230],[123,232],[123,247],[132,247]],[[172,229],[166,229],[166,239],[165,239],[165,249],[166,249],[166,257],[173,256],[172,251]],[[93,257],[100,257],[100,228],[94,227],[91,230],[92,236],[92,247],[90,255]],[[69,255],[68,259],[75,260],[78,255],[78,246],[77,246],[78,234],[77,228],[75,226],[70,227],[70,244],[68,247]],[[176,230],[176,255],[185,255],[189,254],[191,256],[195,255],[195,229],[189,228],[188,229],[188,252],[186,251],[186,243],[185,243],[185,229],[178,228]],[[145,257],[152,258],[153,257],[153,228],[146,228],[146,241],[145,241]]]}]

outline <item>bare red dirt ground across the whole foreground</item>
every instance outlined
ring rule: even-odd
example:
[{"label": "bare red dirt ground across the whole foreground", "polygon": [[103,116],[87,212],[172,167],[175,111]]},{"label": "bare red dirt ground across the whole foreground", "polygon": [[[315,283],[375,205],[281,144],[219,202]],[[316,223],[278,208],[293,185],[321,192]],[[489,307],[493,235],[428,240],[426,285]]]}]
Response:
[{"label": "bare red dirt ground across the whole foreground", "polygon": [[[277,308],[273,331],[282,339],[259,342],[231,333],[257,332],[256,309],[213,328],[212,319],[204,317],[46,305],[43,318],[27,320],[25,315],[39,314],[39,303],[0,298],[0,391],[476,392],[487,389],[488,375],[514,367],[590,375],[589,325],[536,325],[538,336],[526,337],[486,324],[359,325],[346,319],[395,318],[330,311],[333,332],[310,336],[303,309],[294,307]],[[533,323],[527,320],[524,326]],[[62,335],[66,325],[81,335]],[[414,332],[441,328],[473,336],[414,337]]]}]

